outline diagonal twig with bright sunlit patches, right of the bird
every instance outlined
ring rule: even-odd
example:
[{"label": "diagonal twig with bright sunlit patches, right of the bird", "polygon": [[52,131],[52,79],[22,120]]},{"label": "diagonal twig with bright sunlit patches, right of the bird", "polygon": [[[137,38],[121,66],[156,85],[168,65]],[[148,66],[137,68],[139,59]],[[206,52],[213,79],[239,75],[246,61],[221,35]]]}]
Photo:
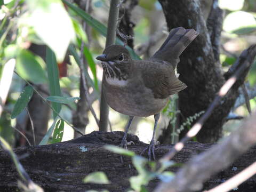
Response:
[{"label": "diagonal twig with bright sunlit patches, right of the bird", "polygon": [[[246,55],[247,52],[250,52],[251,50],[255,49],[256,45],[252,45],[249,47],[249,49],[244,50],[243,53],[240,55],[239,58],[248,57]],[[254,55],[253,55],[254,57]],[[159,159],[159,162],[169,161],[175,154],[177,154],[184,146],[184,143],[189,141],[191,138],[195,137],[195,135],[202,129],[203,124],[205,121],[210,117],[215,107],[219,105],[220,100],[226,95],[226,93],[229,91],[231,86],[234,85],[237,78],[242,74],[242,72],[250,66],[250,62],[247,60],[247,58],[244,58],[244,63],[241,65],[231,76],[224,85],[219,90],[218,95],[214,98],[211,105],[206,110],[205,114],[197,121],[196,124],[193,125],[193,127],[187,132],[186,136],[182,138],[178,143],[175,144],[175,146],[171,149],[169,153],[164,155],[161,159]],[[239,59],[236,61],[234,65],[239,65]]]}]

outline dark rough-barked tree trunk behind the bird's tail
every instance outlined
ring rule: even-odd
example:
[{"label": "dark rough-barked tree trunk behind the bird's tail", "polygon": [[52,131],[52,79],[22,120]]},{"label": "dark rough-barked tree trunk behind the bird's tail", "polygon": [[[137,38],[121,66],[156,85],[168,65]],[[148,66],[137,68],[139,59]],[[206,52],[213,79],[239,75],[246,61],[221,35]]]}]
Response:
[{"label": "dark rough-barked tree trunk behind the bird's tail", "polygon": [[[178,64],[179,78],[188,86],[179,93],[180,110],[186,119],[200,111],[205,111],[227,79],[219,62],[222,12],[215,0],[208,18],[205,18],[207,14],[203,14],[199,0],[159,0],[159,2],[163,7],[169,29],[182,26],[194,28],[199,33],[199,36],[181,54]],[[246,70],[244,74],[247,72]],[[225,119],[239,94],[239,86],[241,82],[233,86],[206,121],[203,129],[196,136],[199,142],[215,142],[221,138],[222,125],[226,122]],[[183,137],[187,131],[183,131],[180,137]]]}]

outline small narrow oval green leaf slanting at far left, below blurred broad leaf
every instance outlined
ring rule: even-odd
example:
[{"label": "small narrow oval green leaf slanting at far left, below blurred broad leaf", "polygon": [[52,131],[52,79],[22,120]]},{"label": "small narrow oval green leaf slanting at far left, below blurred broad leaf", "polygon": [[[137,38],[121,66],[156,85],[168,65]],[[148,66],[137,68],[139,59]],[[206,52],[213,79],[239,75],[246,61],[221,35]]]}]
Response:
[{"label": "small narrow oval green leaf slanting at far left, below blurred broad leaf", "polygon": [[34,89],[30,85],[26,86],[20,93],[20,97],[18,98],[17,102],[14,105],[12,110],[11,118],[17,117],[23,109],[27,106],[28,102],[30,101],[33,95]]}]

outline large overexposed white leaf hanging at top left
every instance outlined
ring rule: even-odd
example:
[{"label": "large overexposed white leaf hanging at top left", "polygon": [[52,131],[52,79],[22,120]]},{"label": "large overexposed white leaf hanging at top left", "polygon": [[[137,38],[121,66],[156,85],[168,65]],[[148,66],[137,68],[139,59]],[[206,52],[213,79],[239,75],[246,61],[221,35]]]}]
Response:
[{"label": "large overexposed white leaf hanging at top left", "polygon": [[73,23],[61,0],[27,0],[31,16],[28,23],[42,41],[51,47],[58,62],[65,58],[68,45],[75,38]]}]

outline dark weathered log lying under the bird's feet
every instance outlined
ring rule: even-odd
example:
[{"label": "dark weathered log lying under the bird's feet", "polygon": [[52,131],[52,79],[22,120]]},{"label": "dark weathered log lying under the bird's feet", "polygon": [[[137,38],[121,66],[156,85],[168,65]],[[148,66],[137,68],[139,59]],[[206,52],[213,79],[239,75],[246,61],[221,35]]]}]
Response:
[{"label": "dark weathered log lying under the bird's feet", "polygon": [[[86,191],[89,189],[109,191],[125,191],[129,188],[129,178],[137,175],[131,159],[120,156],[103,148],[106,144],[118,145],[123,132],[94,131],[83,137],[45,146],[19,147],[14,152],[20,157],[22,165],[30,178],[45,191]],[[140,154],[146,144],[139,141],[137,136],[128,135],[127,141],[135,145],[130,150]],[[156,147],[157,159],[166,154],[173,145],[160,145]],[[185,163],[191,156],[209,149],[212,144],[188,142],[181,152],[173,158],[175,162]],[[242,171],[255,161],[256,147],[251,148],[242,157],[238,158],[232,166],[223,170],[204,183],[204,189],[210,189],[226,181],[233,175]],[[18,173],[10,156],[0,150],[0,191],[17,191]],[[205,162],[207,163],[207,162]],[[129,165],[131,164],[131,169]],[[178,167],[171,167],[176,172]],[[109,185],[95,185],[83,183],[82,180],[89,173],[103,171],[111,181]],[[152,191],[158,184],[155,179],[147,186]],[[256,177],[252,177],[238,187],[236,191],[253,191],[256,186]]]}]

